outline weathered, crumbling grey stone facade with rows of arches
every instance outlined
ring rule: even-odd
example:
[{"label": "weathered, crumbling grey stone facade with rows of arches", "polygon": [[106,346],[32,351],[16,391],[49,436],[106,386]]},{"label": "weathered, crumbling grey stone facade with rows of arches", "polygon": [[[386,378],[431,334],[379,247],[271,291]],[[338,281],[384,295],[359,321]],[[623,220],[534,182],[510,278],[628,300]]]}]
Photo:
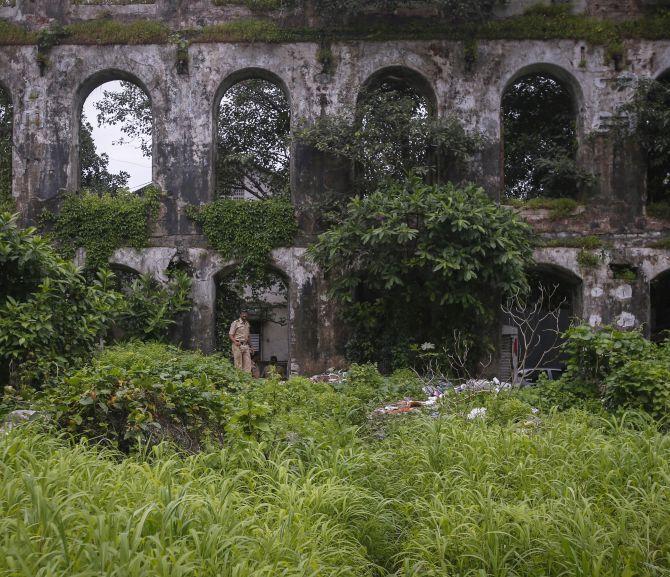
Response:
[{"label": "weathered, crumbling grey stone facade with rows of arches", "polygon": [[[528,3],[510,1],[505,14]],[[603,2],[576,9],[602,14]],[[634,5],[635,4],[635,5]],[[619,2],[618,16],[633,15],[638,3]],[[517,6],[518,5],[518,6]],[[159,18],[175,29],[248,16],[241,7],[209,0],[157,0],[153,4],[86,6],[68,0],[17,0],[0,8],[0,18],[38,27],[57,20],[85,21],[107,15],[132,21]],[[611,16],[611,14],[608,14]],[[0,39],[2,44],[2,39]],[[113,262],[161,278],[175,259],[193,271],[194,310],[188,323],[192,346],[210,350],[214,338],[215,278],[233,263],[206,243],[185,213],[188,204],[208,202],[214,190],[215,110],[236,81],[270,79],[287,94],[292,123],[320,114],[351,110],[362,87],[385,69],[406,69],[430,87],[439,115],[455,114],[487,137],[473,170],[494,197],[502,190],[500,104],[506,87],[529,72],[546,72],[569,87],[578,111],[579,163],[597,176],[597,193],[567,218],[526,210],[546,239],[596,235],[603,240],[598,264],[584,267],[581,249],[539,248],[540,270],[571,283],[575,314],[592,325],[621,328],[653,324],[663,291],[652,303],[652,285],[670,271],[670,252],[651,245],[670,233],[669,223],[645,211],[645,167],[633,146],[608,136],[608,120],[627,97],[617,89],[622,75],[657,78],[670,70],[670,40],[630,40],[625,62],[608,61],[605,47],[576,40],[480,40],[476,60],[466,61],[463,45],[446,40],[347,41],[329,46],[332,66],[324,70],[319,44],[191,43],[188,68],[177,66],[174,43],[54,46],[49,66],[40,69],[38,48],[0,45],[0,84],[14,106],[13,195],[22,215],[33,220],[62,190],[79,185],[78,126],[88,94],[108,80],[127,79],[151,98],[153,180],[164,191],[160,221],[151,247],[119,249]],[[294,372],[312,372],[341,362],[336,310],[326,283],[306,257],[317,232],[310,199],[325,188],[346,187],[343,168],[333,159],[294,144],[291,190],[301,234],[293,247],[276,250],[273,265],[289,288],[289,357]],[[621,267],[629,271],[618,274]],[[631,272],[632,271],[632,274]],[[670,299],[670,293],[665,298]],[[659,300],[660,299],[660,300]]]}]

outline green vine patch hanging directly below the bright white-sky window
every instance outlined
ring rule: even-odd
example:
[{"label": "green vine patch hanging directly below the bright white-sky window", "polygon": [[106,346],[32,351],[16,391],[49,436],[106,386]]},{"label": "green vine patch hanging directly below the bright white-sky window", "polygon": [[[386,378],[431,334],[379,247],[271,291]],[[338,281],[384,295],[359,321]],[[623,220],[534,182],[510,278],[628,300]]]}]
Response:
[{"label": "green vine patch hanging directly below the bright white-sky window", "polygon": [[86,269],[106,266],[121,247],[144,248],[158,213],[160,191],[149,187],[143,196],[127,190],[98,195],[67,194],[58,214],[43,215],[55,243],[67,258],[86,249]]}]

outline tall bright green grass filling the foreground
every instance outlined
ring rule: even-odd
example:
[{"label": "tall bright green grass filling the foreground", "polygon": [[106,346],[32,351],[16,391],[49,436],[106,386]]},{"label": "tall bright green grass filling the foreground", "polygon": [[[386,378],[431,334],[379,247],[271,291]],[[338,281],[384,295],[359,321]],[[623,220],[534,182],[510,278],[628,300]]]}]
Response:
[{"label": "tall bright green grass filling the foreground", "polygon": [[0,574],[670,572],[670,438],[650,421],[573,410],[333,431],[122,458],[15,429],[0,438]]}]

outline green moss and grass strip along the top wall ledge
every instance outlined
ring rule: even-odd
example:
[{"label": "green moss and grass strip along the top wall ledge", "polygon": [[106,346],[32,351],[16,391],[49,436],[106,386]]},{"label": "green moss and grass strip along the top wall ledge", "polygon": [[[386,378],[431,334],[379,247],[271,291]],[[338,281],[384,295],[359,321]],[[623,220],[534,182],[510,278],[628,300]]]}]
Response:
[{"label": "green moss and grass strip along the top wall ledge", "polygon": [[[260,2],[270,8],[273,0]],[[171,31],[151,20],[121,22],[109,18],[88,20],[63,27],[62,44],[164,44],[172,33],[191,42],[318,42],[319,28],[284,26],[262,17],[247,18]],[[333,41],[341,40],[582,40],[607,47],[621,46],[626,39],[670,39],[670,12],[625,22],[600,20],[571,14],[563,7],[540,7],[521,16],[481,23],[449,24],[439,19],[406,18],[389,22],[384,18],[360,18],[352,25],[328,30]],[[0,21],[0,45],[34,44],[38,33]]]}]

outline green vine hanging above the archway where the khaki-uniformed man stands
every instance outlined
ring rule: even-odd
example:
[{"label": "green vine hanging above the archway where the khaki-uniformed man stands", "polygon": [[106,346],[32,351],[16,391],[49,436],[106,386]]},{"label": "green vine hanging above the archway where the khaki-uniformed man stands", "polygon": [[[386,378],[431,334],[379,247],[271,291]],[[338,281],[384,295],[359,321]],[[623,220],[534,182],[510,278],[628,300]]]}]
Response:
[{"label": "green vine hanging above the archway where the khaki-uniformed man stands", "polygon": [[187,214],[216,251],[237,262],[238,278],[252,285],[266,277],[270,252],[290,246],[298,230],[293,205],[286,199],[219,198],[190,206]]}]

